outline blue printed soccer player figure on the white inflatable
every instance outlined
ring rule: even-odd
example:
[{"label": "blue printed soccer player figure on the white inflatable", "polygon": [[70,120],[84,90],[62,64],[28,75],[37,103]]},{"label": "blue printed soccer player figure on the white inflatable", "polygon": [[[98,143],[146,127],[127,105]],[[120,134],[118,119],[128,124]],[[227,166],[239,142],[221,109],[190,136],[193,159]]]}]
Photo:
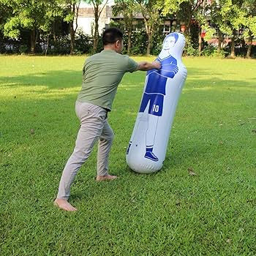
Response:
[{"label": "blue printed soccer player figure on the white inflatable", "polygon": [[[151,159],[154,162],[158,161],[154,154],[154,140],[157,132],[157,124],[159,117],[162,116],[164,105],[164,97],[166,90],[166,82],[168,78],[174,78],[178,72],[177,60],[171,56],[170,49],[173,48],[178,40],[177,33],[171,33],[165,37],[162,51],[159,54],[157,61],[162,65],[161,69],[152,69],[147,72],[146,89],[143,94],[139,113],[144,113],[148,108],[148,129],[146,130],[146,153],[144,157]],[[129,142],[129,148],[132,145],[133,136]]]}]

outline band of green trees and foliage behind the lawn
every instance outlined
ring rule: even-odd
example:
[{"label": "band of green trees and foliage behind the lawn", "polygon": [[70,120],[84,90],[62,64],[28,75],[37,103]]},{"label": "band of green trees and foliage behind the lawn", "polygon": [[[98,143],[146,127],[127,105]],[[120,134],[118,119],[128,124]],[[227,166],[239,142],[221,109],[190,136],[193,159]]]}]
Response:
[{"label": "band of green trees and foliage behind the lawn", "polygon": [[[93,5],[95,18],[99,18],[102,7],[107,3],[106,0],[86,2]],[[76,8],[79,3],[80,0],[0,0],[0,52],[27,53],[34,49],[37,53],[42,53],[46,51],[47,42],[49,54],[67,54],[69,48],[74,53],[95,53],[101,50],[101,31],[98,31],[95,24],[93,41],[89,37],[85,38],[83,45],[84,35],[75,35],[78,13]],[[138,12],[143,14],[144,22],[138,25],[140,32],[131,31],[134,21],[132,16]],[[197,48],[201,45],[198,37],[200,29],[206,31],[202,48],[207,48],[208,39],[219,37],[221,42],[226,36],[235,45],[227,45],[225,51],[231,53],[236,50],[238,56],[249,56],[249,53],[251,56],[255,55],[255,47],[252,45],[252,52],[249,50],[251,46],[248,47],[256,37],[255,0],[212,0],[211,4],[203,4],[203,0],[117,0],[113,14],[124,16],[123,20],[116,23],[124,31],[124,53],[130,47],[132,54],[157,54],[164,37],[159,24],[165,18],[170,18],[176,20],[178,29],[181,24],[186,26],[184,34],[187,38],[187,55],[199,54]],[[62,24],[62,29],[65,27],[64,32],[56,31],[56,23]],[[94,50],[91,50],[91,42]],[[219,44],[219,49],[221,47]],[[208,50],[207,48],[203,54],[208,54]]]}]

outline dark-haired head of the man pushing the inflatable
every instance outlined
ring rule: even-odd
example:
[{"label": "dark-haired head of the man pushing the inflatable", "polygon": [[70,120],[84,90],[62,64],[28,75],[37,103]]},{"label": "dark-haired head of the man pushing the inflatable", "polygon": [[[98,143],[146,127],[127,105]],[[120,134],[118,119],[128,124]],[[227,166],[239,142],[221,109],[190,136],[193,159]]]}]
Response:
[{"label": "dark-haired head of the man pushing the inflatable", "polygon": [[104,49],[115,50],[117,53],[121,53],[123,50],[123,33],[120,29],[106,29],[103,32],[102,41]]}]

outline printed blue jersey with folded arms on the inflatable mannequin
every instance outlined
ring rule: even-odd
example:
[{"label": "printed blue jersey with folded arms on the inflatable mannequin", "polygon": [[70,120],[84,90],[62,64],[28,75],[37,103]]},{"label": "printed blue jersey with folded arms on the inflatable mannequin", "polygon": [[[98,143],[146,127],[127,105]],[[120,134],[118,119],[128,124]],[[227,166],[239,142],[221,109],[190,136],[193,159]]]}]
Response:
[{"label": "printed blue jersey with folded arms on the inflatable mannequin", "polygon": [[161,63],[161,69],[151,69],[147,72],[148,81],[146,84],[147,94],[162,94],[165,95],[165,86],[167,78],[174,78],[178,72],[177,60],[173,56],[165,59],[156,59]]}]

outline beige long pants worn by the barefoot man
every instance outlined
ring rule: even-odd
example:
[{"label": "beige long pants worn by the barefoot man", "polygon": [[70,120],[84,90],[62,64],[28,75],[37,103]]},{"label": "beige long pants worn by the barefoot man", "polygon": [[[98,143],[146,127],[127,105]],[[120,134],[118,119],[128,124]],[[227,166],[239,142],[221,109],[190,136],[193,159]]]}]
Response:
[{"label": "beige long pants worn by the barefoot man", "polygon": [[69,198],[70,186],[78,170],[86,162],[98,140],[97,175],[108,175],[108,155],[113,142],[113,131],[108,124],[107,110],[90,103],[76,102],[75,113],[80,119],[80,129],[75,149],[64,167],[57,196],[66,200]]}]

